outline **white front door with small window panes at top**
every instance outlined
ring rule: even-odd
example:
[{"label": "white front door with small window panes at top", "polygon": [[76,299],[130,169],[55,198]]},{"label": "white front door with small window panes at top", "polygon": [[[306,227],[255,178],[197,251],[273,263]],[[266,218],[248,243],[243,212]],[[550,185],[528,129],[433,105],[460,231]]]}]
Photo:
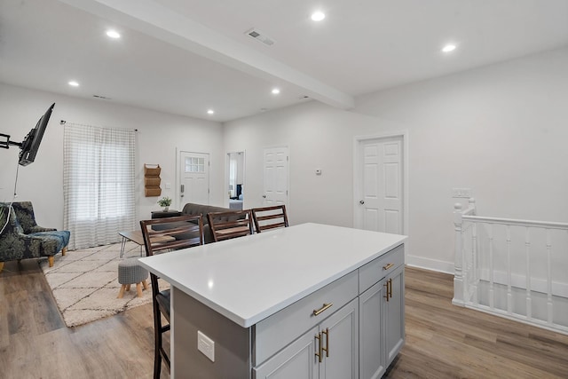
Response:
[{"label": "white front door with small window panes at top", "polygon": [[187,202],[209,204],[209,154],[179,152],[180,210]]}]

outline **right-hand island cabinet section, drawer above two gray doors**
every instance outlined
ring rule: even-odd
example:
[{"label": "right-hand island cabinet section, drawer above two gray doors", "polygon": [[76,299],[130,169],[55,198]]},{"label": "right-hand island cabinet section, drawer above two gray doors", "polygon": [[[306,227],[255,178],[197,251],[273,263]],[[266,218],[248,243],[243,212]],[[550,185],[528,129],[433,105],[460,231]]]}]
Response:
[{"label": "right-hand island cabinet section, drawer above two gray doors", "polygon": [[400,246],[359,269],[361,379],[382,377],[405,343],[403,263]]}]

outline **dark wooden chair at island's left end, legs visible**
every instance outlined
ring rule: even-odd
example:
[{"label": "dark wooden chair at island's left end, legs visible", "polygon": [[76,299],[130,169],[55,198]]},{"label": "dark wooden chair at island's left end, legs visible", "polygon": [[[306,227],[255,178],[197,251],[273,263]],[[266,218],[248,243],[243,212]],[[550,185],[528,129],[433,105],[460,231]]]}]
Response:
[{"label": "dark wooden chair at island's left end, legs visible", "polygon": [[[146,257],[203,244],[203,217],[180,216],[140,221]],[[154,307],[154,379],[159,379],[162,359],[170,369],[170,357],[163,348],[162,335],[170,330],[170,289],[160,290],[158,276],[150,272]],[[168,321],[162,325],[162,315]]]}]

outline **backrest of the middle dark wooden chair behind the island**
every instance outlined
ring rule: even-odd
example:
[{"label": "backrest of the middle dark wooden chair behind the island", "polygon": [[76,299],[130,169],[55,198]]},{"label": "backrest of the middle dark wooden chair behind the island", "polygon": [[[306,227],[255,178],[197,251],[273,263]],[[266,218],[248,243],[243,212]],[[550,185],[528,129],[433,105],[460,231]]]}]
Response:
[{"label": "backrest of the middle dark wooden chair behind the island", "polygon": [[253,233],[250,209],[209,212],[207,218],[211,237],[216,242]]}]

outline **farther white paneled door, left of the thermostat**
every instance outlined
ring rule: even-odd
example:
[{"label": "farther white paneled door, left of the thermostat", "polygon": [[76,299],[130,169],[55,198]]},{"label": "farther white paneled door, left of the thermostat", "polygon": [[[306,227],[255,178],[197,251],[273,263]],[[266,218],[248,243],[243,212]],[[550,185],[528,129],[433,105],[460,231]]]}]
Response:
[{"label": "farther white paneled door, left of the thermostat", "polygon": [[263,206],[288,206],[288,146],[264,149]]}]

